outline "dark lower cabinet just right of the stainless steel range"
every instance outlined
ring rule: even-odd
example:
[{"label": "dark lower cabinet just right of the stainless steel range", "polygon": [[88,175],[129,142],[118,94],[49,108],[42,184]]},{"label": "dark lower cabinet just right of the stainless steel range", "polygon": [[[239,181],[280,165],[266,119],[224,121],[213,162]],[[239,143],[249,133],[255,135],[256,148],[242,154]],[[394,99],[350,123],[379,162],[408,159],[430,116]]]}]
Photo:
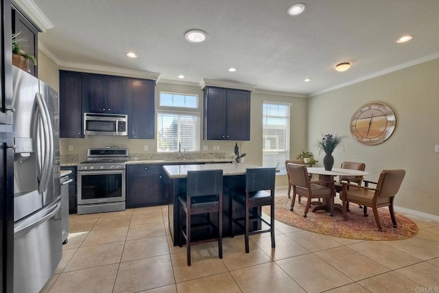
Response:
[{"label": "dark lower cabinet just right of the stainless steel range", "polygon": [[167,204],[163,182],[163,165],[126,166],[126,207]]}]

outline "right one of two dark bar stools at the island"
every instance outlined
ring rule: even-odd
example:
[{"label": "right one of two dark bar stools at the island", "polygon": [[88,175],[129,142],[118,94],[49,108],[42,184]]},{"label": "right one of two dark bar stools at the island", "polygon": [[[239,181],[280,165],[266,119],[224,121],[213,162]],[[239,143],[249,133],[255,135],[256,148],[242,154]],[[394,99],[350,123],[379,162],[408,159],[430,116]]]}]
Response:
[{"label": "right one of two dark bar stools at the island", "polygon": [[[230,232],[232,237],[235,235],[233,231],[233,223],[244,230],[244,242],[246,253],[250,252],[249,235],[270,232],[272,240],[272,248],[276,247],[274,242],[274,181],[276,180],[276,168],[248,168],[246,169],[246,190],[235,191],[233,199],[230,200],[230,213],[232,213],[232,222],[230,222]],[[268,192],[270,191],[270,192]],[[244,206],[244,218],[233,218],[233,204],[237,202]],[[270,222],[267,222],[261,215],[254,212],[254,208],[270,206]],[[241,222],[244,220],[244,225]],[[250,221],[260,220],[268,225],[268,228],[255,230],[250,232]]]}]

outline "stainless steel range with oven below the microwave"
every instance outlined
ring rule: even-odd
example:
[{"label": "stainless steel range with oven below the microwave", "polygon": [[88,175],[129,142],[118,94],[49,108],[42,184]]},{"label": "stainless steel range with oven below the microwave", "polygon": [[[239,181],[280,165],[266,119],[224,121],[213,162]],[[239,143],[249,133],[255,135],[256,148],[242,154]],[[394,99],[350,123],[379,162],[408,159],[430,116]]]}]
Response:
[{"label": "stainless steel range with oven below the microwave", "polygon": [[124,211],[128,149],[90,148],[78,165],[78,214]]}]

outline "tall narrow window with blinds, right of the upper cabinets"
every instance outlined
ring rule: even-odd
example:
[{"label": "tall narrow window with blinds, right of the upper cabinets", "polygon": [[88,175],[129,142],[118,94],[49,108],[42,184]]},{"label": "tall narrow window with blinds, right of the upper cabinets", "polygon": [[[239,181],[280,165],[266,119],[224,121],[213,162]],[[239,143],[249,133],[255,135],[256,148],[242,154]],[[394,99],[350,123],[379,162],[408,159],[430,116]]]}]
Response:
[{"label": "tall narrow window with blinds, right of the upper cabinets", "polygon": [[291,104],[263,102],[263,166],[286,174],[289,159],[289,108]]}]

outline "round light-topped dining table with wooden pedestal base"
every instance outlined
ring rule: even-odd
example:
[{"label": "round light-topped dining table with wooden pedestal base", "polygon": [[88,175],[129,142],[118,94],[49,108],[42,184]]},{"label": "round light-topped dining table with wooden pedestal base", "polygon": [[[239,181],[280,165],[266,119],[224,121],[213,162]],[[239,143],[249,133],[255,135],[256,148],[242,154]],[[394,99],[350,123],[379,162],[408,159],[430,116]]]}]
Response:
[{"label": "round light-topped dining table with wooden pedestal base", "polygon": [[[367,176],[370,173],[366,171],[360,171],[360,170],[353,170],[353,169],[342,169],[342,168],[332,168],[330,171],[325,170],[324,167],[307,167],[307,171],[309,174],[316,174],[319,176],[319,180],[331,182],[329,184],[334,185],[335,176]],[[322,204],[317,205],[316,207],[313,207],[312,211],[320,211],[322,209],[326,211],[331,210],[331,201],[334,202],[335,198],[335,189],[332,188],[334,191],[333,196],[329,198],[323,198]],[[338,209],[342,209],[341,204],[334,204],[334,207],[337,207]]]}]

